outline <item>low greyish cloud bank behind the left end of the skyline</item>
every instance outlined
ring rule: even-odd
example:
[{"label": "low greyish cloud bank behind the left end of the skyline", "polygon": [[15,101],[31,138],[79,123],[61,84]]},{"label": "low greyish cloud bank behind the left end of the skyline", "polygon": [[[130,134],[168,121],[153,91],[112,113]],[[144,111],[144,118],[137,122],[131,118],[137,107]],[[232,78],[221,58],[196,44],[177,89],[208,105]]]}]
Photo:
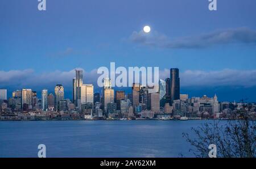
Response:
[{"label": "low greyish cloud bank behind the left end of the skyline", "polygon": [[[97,70],[89,72],[83,71],[84,83],[97,83]],[[0,88],[32,88],[34,90],[48,88],[49,90],[53,90],[56,84],[63,84],[64,88],[71,88],[72,79],[75,76],[75,69],[70,71],[56,70],[44,73],[35,73],[34,70],[31,69],[0,71]]]}]

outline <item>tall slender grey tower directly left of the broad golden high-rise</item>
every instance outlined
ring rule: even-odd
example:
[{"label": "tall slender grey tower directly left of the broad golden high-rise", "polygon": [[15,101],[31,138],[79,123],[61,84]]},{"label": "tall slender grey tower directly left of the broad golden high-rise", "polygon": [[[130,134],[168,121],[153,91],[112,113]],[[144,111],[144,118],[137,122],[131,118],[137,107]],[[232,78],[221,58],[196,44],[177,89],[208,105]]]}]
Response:
[{"label": "tall slender grey tower directly left of the broad golden high-rise", "polygon": [[82,70],[76,70],[76,78],[73,79],[73,103],[81,107]]}]

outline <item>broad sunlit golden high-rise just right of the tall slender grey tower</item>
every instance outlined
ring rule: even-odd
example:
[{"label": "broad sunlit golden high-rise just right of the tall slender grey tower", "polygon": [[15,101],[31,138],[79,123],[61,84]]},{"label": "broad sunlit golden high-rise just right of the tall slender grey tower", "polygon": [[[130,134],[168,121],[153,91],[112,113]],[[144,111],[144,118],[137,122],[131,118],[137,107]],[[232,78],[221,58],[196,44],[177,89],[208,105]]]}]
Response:
[{"label": "broad sunlit golden high-rise just right of the tall slender grey tower", "polygon": [[81,104],[93,103],[93,84],[82,84]]}]

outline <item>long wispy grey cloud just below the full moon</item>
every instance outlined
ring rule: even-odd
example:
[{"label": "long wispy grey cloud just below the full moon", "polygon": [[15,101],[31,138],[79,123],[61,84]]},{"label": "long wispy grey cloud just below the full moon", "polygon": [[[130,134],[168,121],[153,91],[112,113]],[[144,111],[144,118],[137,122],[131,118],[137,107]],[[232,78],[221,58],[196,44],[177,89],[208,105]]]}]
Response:
[{"label": "long wispy grey cloud just below the full moon", "polygon": [[197,36],[179,37],[174,40],[156,31],[150,34],[134,31],[129,40],[133,43],[160,48],[207,48],[234,43],[256,45],[256,31],[245,27],[232,28]]}]

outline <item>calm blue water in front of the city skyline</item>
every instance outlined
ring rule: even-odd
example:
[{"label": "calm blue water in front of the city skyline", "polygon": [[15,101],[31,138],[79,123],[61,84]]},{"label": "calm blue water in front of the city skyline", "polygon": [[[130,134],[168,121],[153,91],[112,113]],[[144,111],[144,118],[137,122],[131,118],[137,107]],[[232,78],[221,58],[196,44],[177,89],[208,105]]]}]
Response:
[{"label": "calm blue water in front of the city skyline", "polygon": [[0,121],[0,157],[193,157],[182,133],[203,122]]}]

